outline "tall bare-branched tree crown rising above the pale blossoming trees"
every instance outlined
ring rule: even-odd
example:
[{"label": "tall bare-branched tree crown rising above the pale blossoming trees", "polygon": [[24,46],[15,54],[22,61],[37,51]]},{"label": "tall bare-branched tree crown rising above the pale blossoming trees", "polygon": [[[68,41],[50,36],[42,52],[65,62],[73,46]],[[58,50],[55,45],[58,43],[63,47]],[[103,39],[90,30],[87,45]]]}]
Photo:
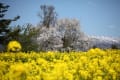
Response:
[{"label": "tall bare-branched tree crown rising above the pale blossoming trees", "polygon": [[41,18],[42,26],[47,28],[49,28],[50,25],[55,26],[57,13],[55,12],[54,6],[41,5],[39,16]]}]

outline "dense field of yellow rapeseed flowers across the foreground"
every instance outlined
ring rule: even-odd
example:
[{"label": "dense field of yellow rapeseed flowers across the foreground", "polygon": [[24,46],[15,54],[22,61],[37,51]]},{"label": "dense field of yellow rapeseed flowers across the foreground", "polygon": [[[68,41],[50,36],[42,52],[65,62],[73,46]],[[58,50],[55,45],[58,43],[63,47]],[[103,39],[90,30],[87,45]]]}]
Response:
[{"label": "dense field of yellow rapeseed flowers across the foreground", "polygon": [[120,50],[0,53],[0,80],[120,80]]}]

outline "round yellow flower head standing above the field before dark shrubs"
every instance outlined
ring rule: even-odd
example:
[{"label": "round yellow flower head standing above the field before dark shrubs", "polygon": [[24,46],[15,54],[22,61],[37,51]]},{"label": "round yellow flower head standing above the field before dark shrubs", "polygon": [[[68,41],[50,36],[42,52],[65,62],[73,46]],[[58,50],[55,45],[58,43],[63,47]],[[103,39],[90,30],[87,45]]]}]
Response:
[{"label": "round yellow flower head standing above the field before dark shrubs", "polygon": [[18,52],[22,49],[21,44],[18,41],[10,41],[7,46],[7,51]]}]

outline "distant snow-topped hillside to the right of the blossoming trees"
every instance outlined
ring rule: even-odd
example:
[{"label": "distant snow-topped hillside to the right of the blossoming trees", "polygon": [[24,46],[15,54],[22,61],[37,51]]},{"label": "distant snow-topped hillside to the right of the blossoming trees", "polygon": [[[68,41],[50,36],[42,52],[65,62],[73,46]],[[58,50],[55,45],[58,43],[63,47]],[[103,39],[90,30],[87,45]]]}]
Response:
[{"label": "distant snow-topped hillside to the right of the blossoming trees", "polygon": [[89,36],[89,39],[93,47],[103,49],[117,47],[120,49],[120,38]]}]

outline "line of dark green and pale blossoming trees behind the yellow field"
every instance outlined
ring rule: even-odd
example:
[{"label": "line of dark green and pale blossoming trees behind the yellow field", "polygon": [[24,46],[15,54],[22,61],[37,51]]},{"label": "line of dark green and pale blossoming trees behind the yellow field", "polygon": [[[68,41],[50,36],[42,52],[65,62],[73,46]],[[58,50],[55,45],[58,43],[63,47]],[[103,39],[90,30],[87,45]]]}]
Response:
[{"label": "line of dark green and pale blossoming trees behind the yellow field", "polygon": [[[34,26],[30,23],[11,27],[10,24],[19,20],[20,16],[5,19],[10,5],[0,3],[0,51],[6,51],[9,41],[17,40],[22,45],[22,51],[71,51],[88,50],[94,45],[89,37],[80,29],[77,19],[58,19],[55,7],[41,5],[38,16],[40,23]],[[116,47],[116,46],[112,46]]]}]

